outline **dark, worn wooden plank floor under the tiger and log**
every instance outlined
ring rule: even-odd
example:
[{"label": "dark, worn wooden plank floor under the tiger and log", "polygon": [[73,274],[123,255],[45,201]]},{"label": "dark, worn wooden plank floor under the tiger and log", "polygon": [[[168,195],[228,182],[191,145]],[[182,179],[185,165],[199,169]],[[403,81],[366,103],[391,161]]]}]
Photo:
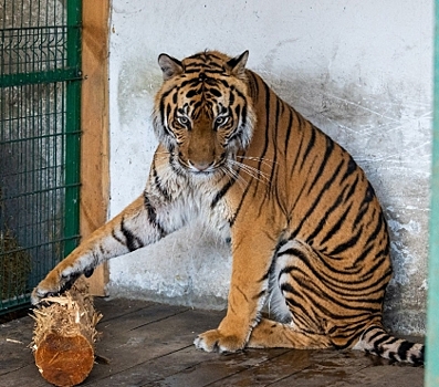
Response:
[{"label": "dark, worn wooden plank floor under the tiger and log", "polygon": [[[104,314],[97,362],[82,386],[398,386],[420,387],[424,368],[391,365],[359,352],[250,349],[219,355],[197,351],[198,333],[223,312],[143,301],[96,300]],[[0,325],[0,386],[49,386],[28,348],[32,320]],[[105,360],[106,359],[106,360]]]}]

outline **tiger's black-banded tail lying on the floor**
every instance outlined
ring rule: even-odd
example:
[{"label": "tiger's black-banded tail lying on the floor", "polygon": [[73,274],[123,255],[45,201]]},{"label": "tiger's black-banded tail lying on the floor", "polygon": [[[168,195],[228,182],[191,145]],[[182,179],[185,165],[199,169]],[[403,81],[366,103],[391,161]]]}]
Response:
[{"label": "tiger's black-banded tail lying on the floor", "polygon": [[410,343],[407,339],[395,337],[379,325],[367,327],[354,347],[354,349],[362,349],[390,360],[414,365],[424,364],[424,344]]}]

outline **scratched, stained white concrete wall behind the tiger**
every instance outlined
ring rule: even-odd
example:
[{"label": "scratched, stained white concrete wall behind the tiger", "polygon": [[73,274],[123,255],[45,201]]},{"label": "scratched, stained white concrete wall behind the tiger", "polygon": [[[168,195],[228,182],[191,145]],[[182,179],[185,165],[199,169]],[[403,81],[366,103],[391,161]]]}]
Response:
[{"label": "scratched, stained white concrete wall behind the tiger", "polygon": [[[147,178],[158,54],[248,49],[249,67],[366,170],[393,238],[387,323],[424,333],[432,20],[429,0],[113,0],[111,216]],[[227,247],[195,227],[114,259],[109,291],[221,307],[229,273]]]}]

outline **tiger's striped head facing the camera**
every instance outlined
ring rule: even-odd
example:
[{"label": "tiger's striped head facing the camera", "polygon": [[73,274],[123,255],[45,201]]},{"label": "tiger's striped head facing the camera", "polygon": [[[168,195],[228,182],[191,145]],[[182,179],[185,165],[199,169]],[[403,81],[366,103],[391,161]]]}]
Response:
[{"label": "tiger's striped head facing the camera", "polygon": [[249,52],[230,59],[216,51],[181,62],[158,56],[164,83],[153,113],[158,140],[180,171],[206,176],[230,169],[250,144],[254,114],[248,94]]}]

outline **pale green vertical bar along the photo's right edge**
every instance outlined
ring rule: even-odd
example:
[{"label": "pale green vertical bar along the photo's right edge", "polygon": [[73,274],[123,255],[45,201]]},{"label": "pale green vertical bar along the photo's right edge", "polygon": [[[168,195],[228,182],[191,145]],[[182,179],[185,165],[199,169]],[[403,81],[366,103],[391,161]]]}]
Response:
[{"label": "pale green vertical bar along the photo's right edge", "polygon": [[435,7],[435,112],[425,379],[427,387],[439,386],[439,0],[436,0]]}]

